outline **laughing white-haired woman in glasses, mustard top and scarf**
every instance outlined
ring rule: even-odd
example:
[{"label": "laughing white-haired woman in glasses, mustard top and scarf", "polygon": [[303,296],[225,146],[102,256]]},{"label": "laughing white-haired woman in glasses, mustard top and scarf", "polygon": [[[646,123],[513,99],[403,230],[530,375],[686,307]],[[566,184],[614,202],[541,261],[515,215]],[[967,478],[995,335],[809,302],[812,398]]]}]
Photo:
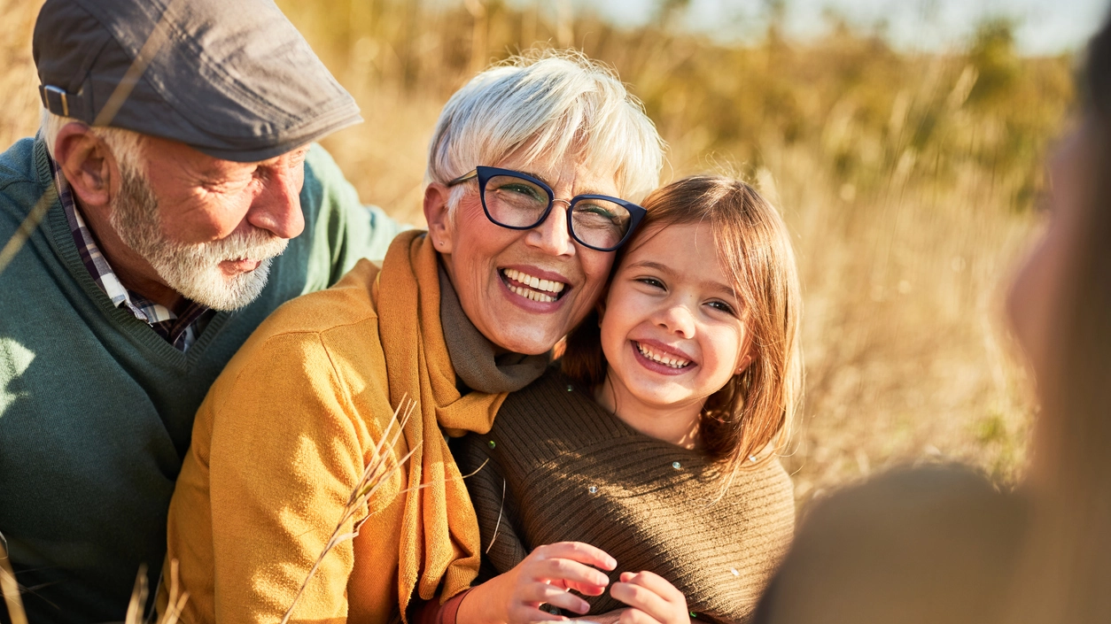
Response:
[{"label": "laughing white-haired woman in glasses, mustard top and scarf", "polygon": [[[358,535],[321,560],[293,618],[387,622],[467,588],[479,530],[441,432],[488,431],[543,372],[661,161],[641,107],[581,57],[516,59],[456,93],[431,141],[429,231],[279,309],[201,405],[168,530],[183,620],[281,618],[379,450],[387,465],[412,455],[342,527]],[[407,400],[402,435],[380,444]]]}]

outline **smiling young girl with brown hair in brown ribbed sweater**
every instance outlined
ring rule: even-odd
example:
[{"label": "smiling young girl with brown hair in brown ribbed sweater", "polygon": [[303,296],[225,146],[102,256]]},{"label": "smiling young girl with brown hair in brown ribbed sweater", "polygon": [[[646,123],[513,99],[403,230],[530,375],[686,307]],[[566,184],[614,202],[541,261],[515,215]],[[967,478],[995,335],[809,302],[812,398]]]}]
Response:
[{"label": "smiling young girl with brown hair in brown ribbed sweater", "polygon": [[775,453],[801,389],[787,229],[720,177],[644,208],[560,368],[458,447],[464,473],[488,462],[467,480],[488,581],[457,602],[459,622],[625,607],[637,622],[739,622],[790,541]]}]

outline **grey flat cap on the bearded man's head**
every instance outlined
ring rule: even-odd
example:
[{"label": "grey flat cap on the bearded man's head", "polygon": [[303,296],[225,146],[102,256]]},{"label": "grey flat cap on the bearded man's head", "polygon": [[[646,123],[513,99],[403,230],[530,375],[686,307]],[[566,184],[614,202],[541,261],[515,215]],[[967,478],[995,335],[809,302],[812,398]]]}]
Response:
[{"label": "grey flat cap on the bearded man's head", "polygon": [[43,105],[91,124],[163,14],[166,38],[109,125],[250,162],[362,121],[270,0],[47,0],[33,44]]}]

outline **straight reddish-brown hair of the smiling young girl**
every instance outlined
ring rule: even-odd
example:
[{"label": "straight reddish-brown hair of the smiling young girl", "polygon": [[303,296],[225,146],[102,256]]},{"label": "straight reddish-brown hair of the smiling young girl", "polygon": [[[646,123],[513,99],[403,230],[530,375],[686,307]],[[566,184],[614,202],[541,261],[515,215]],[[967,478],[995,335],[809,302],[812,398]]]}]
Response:
[{"label": "straight reddish-brown hair of the smiling young girl", "polygon": [[[652,192],[643,205],[648,215],[623,249],[635,248],[658,228],[708,222],[722,272],[744,306],[752,362],[702,407],[702,440],[707,453],[724,464],[724,492],[741,466],[785,445],[802,392],[802,298],[791,239],[775,209],[752,187],[730,178],[684,178]],[[615,259],[614,270],[621,260]],[[561,362],[563,372],[581,383],[597,386],[605,380],[597,314],[568,336]]]}]

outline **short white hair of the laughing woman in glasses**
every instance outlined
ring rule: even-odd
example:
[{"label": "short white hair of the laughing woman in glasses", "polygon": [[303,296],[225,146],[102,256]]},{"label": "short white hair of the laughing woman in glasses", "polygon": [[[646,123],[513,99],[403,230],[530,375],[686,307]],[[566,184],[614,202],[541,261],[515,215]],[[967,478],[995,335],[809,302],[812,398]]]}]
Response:
[{"label": "short white hair of the laughing woman in glasses", "polygon": [[448,100],[428,179],[447,183],[510,154],[612,171],[623,199],[640,201],[659,182],[663,140],[613,71],[580,52],[533,52],[479,73]]}]

